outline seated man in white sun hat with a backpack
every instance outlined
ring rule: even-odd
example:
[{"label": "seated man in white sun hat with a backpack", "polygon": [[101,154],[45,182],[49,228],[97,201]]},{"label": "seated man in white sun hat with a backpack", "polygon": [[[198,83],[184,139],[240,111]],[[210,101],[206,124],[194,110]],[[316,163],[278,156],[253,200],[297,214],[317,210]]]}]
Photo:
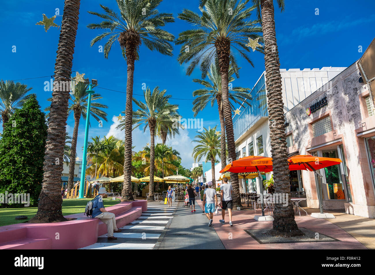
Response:
[{"label": "seated man in white sun hat with a backpack", "polygon": [[93,218],[98,218],[105,224],[107,224],[107,231],[108,231],[108,239],[115,240],[116,237],[113,236],[113,232],[119,233],[121,229],[117,229],[116,227],[116,218],[115,214],[108,212],[105,210],[103,205],[103,195],[107,194],[105,191],[105,187],[99,188],[98,196],[95,197],[93,201]]}]

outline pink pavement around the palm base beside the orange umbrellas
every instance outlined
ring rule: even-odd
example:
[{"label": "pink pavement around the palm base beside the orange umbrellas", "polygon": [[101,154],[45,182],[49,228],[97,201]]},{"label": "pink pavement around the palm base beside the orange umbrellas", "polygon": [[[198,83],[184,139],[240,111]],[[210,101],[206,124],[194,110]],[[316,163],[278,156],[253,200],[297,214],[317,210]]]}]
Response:
[{"label": "pink pavement around the palm base beside the orange umbrellas", "polygon": [[[195,202],[198,202],[202,207],[200,198],[196,199]],[[254,220],[255,215],[262,214],[261,210],[233,211],[232,213],[232,227],[229,226],[228,211],[225,211],[225,224],[219,222],[222,218],[220,208],[219,214],[217,216],[214,214],[213,216],[212,225],[226,249],[367,249],[365,245],[339,226],[328,220],[316,219],[310,216],[296,216],[297,225],[340,241],[260,244],[244,229],[272,228],[272,221]],[[268,210],[265,211],[265,214],[268,214]]]}]

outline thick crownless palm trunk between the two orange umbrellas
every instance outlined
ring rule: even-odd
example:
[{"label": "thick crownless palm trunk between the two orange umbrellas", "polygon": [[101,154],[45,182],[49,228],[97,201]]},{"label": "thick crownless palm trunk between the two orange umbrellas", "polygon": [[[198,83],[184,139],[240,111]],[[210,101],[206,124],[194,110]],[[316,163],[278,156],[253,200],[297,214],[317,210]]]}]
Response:
[{"label": "thick crownless palm trunk between the two orange umbrellas", "polygon": [[[276,43],[275,18],[272,0],[261,0],[261,15],[264,37],[264,63],[266,66],[266,88],[270,119],[271,153],[275,192],[288,195],[288,206],[275,204],[273,210],[273,234],[301,235],[294,220],[290,201],[289,167],[285,142],[284,103],[282,101],[281,74]],[[302,233],[303,234],[303,233]]]}]

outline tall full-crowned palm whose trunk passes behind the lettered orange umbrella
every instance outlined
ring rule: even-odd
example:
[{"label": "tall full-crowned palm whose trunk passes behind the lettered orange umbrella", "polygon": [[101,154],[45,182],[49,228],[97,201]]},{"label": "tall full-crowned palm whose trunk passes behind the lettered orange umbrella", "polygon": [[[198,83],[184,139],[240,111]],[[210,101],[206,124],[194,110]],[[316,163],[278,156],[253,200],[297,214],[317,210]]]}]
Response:
[{"label": "tall full-crowned palm whose trunk passes behind the lettered orange umbrella", "polygon": [[[201,16],[186,9],[178,14],[178,18],[194,25],[194,29],[180,33],[176,41],[176,44],[183,45],[178,55],[178,62],[182,64],[191,61],[187,67],[187,74],[190,75],[200,64],[202,78],[204,78],[212,60],[218,59],[228,156],[233,160],[236,159],[236,147],[228,92],[229,64],[232,64],[236,77],[239,77],[239,67],[234,52],[238,52],[253,65],[248,56],[250,49],[246,47],[246,44],[248,38],[259,38],[258,33],[262,31],[258,25],[260,21],[249,19],[255,7],[246,8],[248,2],[249,0],[239,1],[239,3],[237,0],[204,0],[204,4],[199,7],[202,12]],[[258,51],[262,49],[258,48]],[[234,206],[241,207],[237,174],[231,173],[231,182]]]}]

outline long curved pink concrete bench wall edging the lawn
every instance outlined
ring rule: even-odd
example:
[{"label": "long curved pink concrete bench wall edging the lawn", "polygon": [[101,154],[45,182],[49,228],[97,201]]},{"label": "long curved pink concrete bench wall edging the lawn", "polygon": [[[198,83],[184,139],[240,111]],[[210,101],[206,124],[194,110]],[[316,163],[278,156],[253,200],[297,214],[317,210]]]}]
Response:
[{"label": "long curved pink concrete bench wall edging the lawn", "polygon": [[[120,202],[106,209],[116,215],[120,228],[147,211],[147,201]],[[99,236],[107,233],[107,226],[99,219],[83,213],[65,217],[76,220],[1,226],[0,249],[77,249],[95,244]]]}]

